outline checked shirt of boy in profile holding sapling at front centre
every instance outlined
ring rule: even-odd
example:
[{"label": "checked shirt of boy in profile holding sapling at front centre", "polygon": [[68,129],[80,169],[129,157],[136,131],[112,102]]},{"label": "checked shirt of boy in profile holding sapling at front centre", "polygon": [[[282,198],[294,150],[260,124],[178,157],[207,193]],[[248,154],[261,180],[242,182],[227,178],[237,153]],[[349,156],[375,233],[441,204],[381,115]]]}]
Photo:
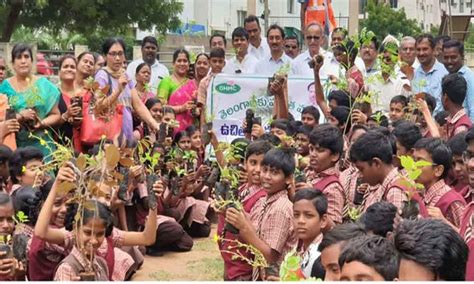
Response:
[{"label": "checked shirt of boy in profile holding sapling at front centre", "polygon": [[[280,258],[272,263],[279,266],[298,240],[293,226],[293,203],[288,199],[288,192],[281,190],[261,198],[252,208],[250,220],[258,237],[280,254]],[[259,279],[260,275],[254,270],[253,280]]]}]

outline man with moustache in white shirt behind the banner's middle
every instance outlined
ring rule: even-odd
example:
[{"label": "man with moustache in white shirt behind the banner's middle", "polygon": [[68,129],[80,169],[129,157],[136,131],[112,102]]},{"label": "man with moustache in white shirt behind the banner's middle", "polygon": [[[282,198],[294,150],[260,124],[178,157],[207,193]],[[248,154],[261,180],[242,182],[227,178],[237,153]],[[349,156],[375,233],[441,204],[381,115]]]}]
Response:
[{"label": "man with moustache in white shirt behind the banner's middle", "polygon": [[267,39],[271,54],[258,62],[256,70],[258,75],[273,76],[285,65],[288,67],[286,73],[290,73],[292,60],[283,50],[284,38],[285,32],[279,25],[271,25],[268,28]]}]

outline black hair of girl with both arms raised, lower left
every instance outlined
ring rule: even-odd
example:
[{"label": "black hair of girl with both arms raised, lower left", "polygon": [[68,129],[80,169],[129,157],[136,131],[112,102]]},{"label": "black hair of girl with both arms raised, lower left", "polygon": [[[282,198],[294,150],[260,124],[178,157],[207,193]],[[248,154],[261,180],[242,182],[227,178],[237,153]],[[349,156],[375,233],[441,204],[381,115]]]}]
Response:
[{"label": "black hair of girl with both arms raised, lower left", "polygon": [[[99,218],[104,222],[105,226],[105,237],[112,235],[112,230],[114,228],[113,215],[112,211],[103,203],[97,200],[88,200],[87,203],[90,203],[91,206],[84,206],[83,212],[80,214],[82,218],[82,224],[87,224],[87,222],[92,218]],[[67,205],[66,216],[64,217],[64,228],[68,231],[74,229],[75,216],[77,214],[79,205],[77,203],[69,203]],[[90,209],[90,208],[95,208]],[[79,222],[81,219],[79,219]]]}]

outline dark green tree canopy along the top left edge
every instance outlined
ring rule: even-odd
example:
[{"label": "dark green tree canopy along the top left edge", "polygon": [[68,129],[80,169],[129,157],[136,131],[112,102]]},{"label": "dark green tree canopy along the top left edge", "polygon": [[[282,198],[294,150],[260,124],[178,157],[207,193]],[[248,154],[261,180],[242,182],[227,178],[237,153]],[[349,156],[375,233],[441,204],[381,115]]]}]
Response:
[{"label": "dark green tree canopy along the top left edge", "polygon": [[1,0],[1,41],[10,41],[15,27],[64,30],[87,35],[96,31],[123,34],[130,27],[155,26],[158,32],[176,29],[183,3],[178,0]]}]

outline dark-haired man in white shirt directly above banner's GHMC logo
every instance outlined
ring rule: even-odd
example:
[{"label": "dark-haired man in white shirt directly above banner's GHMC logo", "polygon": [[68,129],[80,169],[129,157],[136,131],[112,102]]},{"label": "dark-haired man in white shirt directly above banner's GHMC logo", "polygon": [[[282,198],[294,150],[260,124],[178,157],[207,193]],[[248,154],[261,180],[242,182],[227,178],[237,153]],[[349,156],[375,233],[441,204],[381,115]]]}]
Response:
[{"label": "dark-haired man in white shirt directly above banner's GHMC logo", "polygon": [[232,32],[232,45],[235,56],[228,59],[223,69],[226,74],[255,74],[258,59],[248,54],[249,34],[242,27],[237,27]]}]

